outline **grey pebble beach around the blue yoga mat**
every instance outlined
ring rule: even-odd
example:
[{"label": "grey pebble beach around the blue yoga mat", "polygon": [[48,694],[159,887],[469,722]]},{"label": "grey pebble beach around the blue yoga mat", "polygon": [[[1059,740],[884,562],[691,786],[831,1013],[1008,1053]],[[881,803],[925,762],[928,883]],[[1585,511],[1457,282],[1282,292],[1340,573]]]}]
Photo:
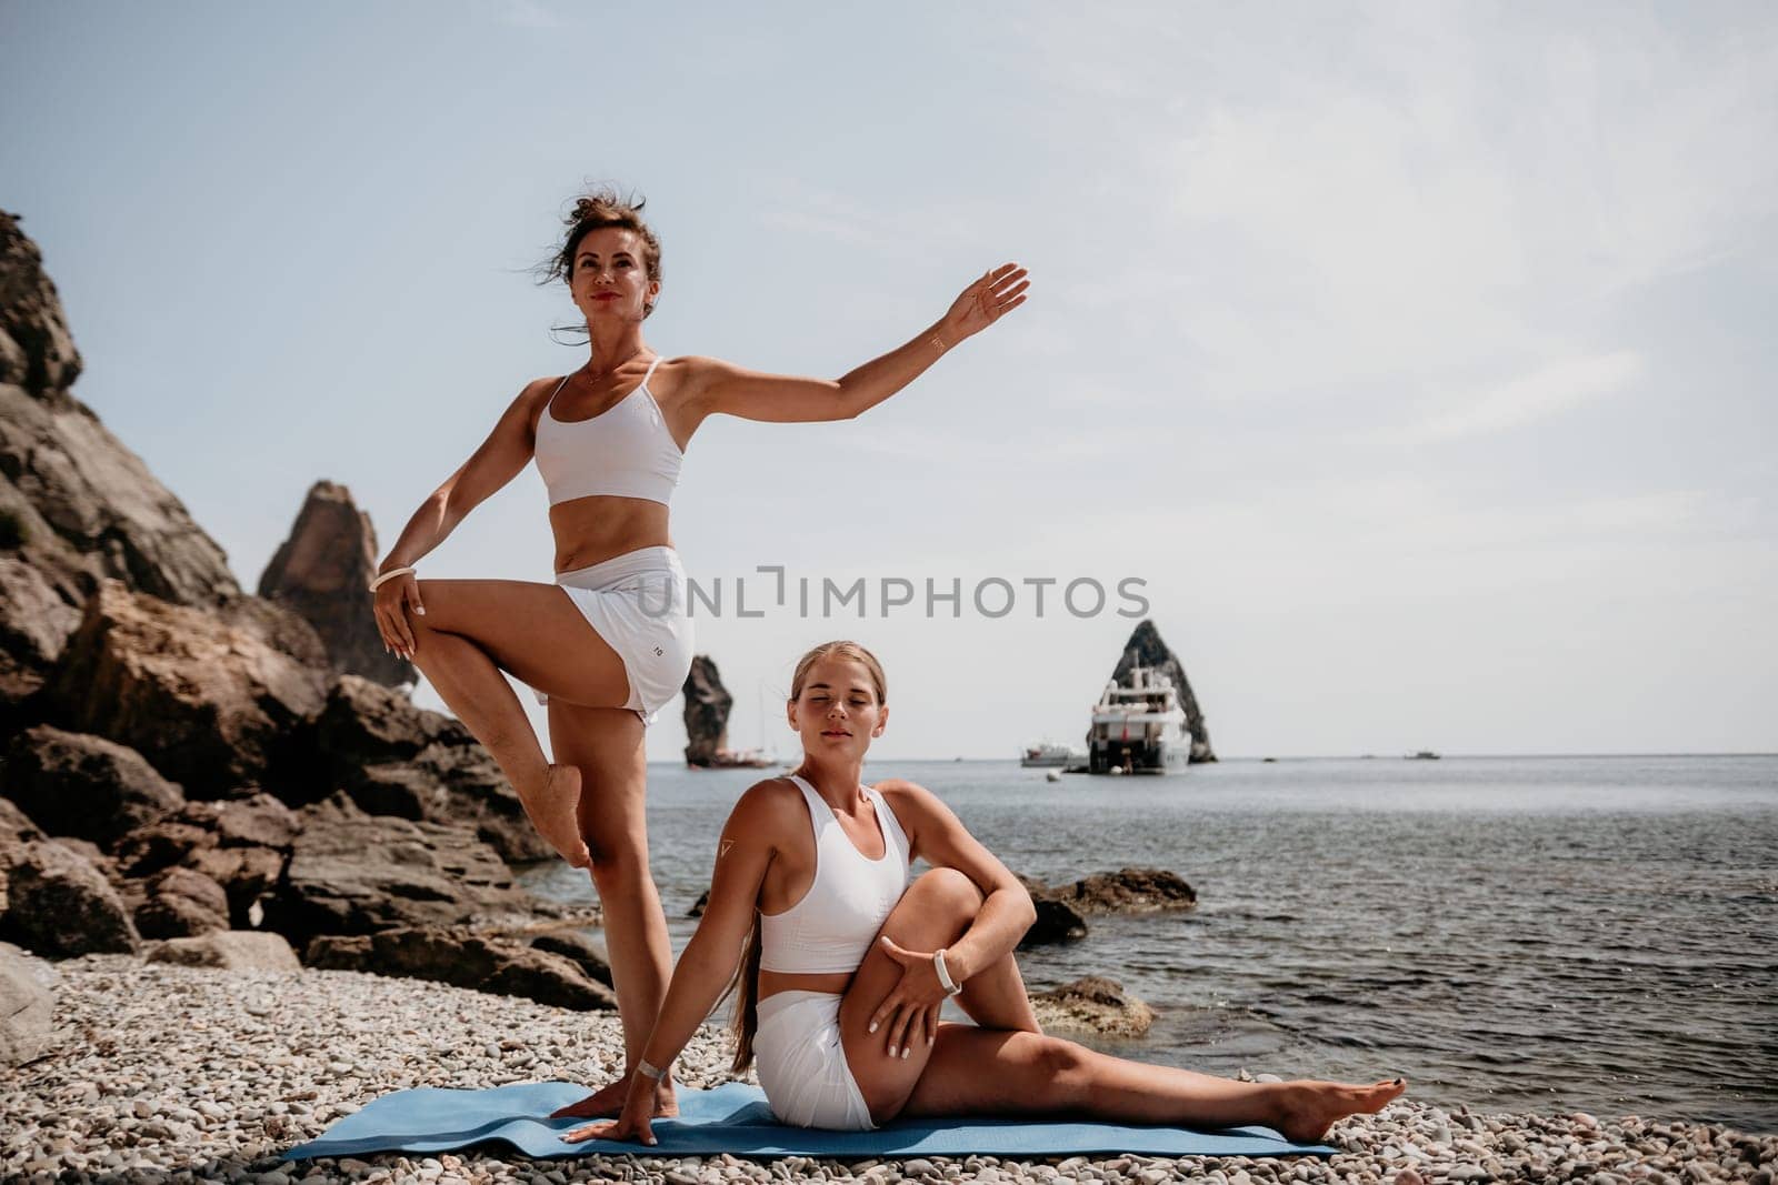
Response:
[{"label": "grey pebble beach around the blue yoga mat", "polygon": [[[1470,1114],[1399,1100],[1346,1119],[1330,1158],[999,1157],[910,1160],[461,1155],[281,1160],[334,1119],[405,1087],[608,1080],[615,1014],[574,1013],[361,972],[226,972],[85,956],[55,965],[55,1039],[0,1071],[5,1181],[1755,1181],[1778,1173],[1778,1135],[1659,1116]],[[706,1027],[679,1078],[729,1080]]]}]

